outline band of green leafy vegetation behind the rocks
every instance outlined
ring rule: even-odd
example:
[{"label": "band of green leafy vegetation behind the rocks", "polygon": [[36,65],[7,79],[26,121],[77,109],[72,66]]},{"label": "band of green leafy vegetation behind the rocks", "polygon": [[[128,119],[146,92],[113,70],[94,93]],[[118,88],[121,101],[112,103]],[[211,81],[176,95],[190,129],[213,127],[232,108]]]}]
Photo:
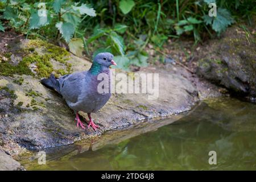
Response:
[{"label": "band of green leafy vegetation behind the rocks", "polygon": [[[122,69],[147,65],[148,43],[161,48],[168,39],[188,38],[195,44],[221,35],[235,22],[256,13],[254,0],[166,1],[0,1],[0,30],[15,30],[28,38],[46,39],[78,56],[108,51]],[[217,16],[208,16],[209,3]]]}]

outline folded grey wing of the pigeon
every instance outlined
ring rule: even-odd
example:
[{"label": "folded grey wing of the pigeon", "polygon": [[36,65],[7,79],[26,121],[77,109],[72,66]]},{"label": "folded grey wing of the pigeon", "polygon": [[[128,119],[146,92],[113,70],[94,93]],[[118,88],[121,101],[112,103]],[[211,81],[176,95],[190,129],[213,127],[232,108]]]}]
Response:
[{"label": "folded grey wing of the pigeon", "polygon": [[77,102],[81,94],[82,84],[85,84],[86,73],[73,73],[59,78],[60,93],[65,100],[73,103]]}]

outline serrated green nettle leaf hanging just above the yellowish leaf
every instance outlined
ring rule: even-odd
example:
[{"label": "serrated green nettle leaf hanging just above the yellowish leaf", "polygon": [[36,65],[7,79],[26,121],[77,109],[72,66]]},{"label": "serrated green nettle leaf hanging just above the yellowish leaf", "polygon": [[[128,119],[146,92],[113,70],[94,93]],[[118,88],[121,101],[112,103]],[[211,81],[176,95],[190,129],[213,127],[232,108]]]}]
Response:
[{"label": "serrated green nettle leaf hanging just above the yellowish leaf", "polygon": [[69,42],[69,40],[72,38],[73,34],[75,33],[75,26],[73,26],[72,23],[68,22],[58,22],[55,24],[55,26],[60,31],[60,34],[64,38],[65,42]]}]

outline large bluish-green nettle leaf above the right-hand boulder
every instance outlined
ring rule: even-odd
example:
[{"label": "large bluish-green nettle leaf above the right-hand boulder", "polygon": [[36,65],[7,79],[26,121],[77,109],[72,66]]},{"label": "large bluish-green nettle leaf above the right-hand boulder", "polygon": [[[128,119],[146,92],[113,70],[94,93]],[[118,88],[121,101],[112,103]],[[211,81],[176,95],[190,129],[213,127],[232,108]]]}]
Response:
[{"label": "large bluish-green nettle leaf above the right-hand boulder", "polygon": [[226,28],[234,23],[234,19],[228,10],[218,8],[217,16],[213,19],[212,28],[214,31],[220,34],[222,31],[226,30]]}]

